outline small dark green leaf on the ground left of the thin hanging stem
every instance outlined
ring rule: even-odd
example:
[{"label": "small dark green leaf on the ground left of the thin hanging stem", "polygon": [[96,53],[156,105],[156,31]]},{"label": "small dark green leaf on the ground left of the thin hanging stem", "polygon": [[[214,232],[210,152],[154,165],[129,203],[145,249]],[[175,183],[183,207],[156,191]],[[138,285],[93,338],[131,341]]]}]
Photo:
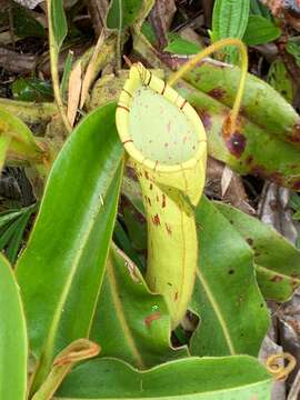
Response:
[{"label": "small dark green leaf on the ground left of the thin hanging stem", "polygon": [[18,78],[11,84],[16,100],[21,101],[52,101],[53,90],[50,82],[38,78]]}]

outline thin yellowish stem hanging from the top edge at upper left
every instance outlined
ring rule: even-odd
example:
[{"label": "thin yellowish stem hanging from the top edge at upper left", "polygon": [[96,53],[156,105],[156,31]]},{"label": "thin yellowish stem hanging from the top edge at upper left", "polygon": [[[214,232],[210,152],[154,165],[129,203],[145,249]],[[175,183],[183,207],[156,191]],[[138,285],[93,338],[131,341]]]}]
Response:
[{"label": "thin yellowish stem hanging from the top edge at upper left", "polygon": [[62,121],[66,126],[67,131],[70,133],[72,131],[72,127],[68,120],[60,93],[59,71],[58,71],[58,50],[56,48],[53,40],[53,27],[51,21],[51,0],[47,1],[47,10],[48,10],[48,28],[49,28],[50,67],[51,67],[53,92]]}]

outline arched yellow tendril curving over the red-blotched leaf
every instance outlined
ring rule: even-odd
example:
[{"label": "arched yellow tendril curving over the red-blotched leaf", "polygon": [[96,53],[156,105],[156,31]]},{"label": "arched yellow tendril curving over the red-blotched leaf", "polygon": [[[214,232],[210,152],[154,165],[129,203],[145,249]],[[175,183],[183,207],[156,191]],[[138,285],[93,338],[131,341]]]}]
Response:
[{"label": "arched yellow tendril curving over the red-blotched leaf", "polygon": [[248,52],[247,47],[243,44],[243,42],[239,39],[222,39],[218,42],[209,46],[204,50],[202,50],[200,53],[198,53],[193,59],[186,62],[182,68],[180,68],[176,73],[173,73],[169,81],[169,86],[173,86],[178,82],[180,78],[182,78],[186,73],[191,71],[201,60],[203,60],[206,57],[210,56],[211,53],[216,52],[217,50],[220,50],[227,46],[236,46],[241,54],[241,77],[239,82],[239,88],[237,92],[237,97],[232,107],[231,111],[231,132],[234,132],[236,124],[237,124],[237,118],[240,111],[241,101],[244,92],[244,84],[247,79],[247,71],[248,71]]}]

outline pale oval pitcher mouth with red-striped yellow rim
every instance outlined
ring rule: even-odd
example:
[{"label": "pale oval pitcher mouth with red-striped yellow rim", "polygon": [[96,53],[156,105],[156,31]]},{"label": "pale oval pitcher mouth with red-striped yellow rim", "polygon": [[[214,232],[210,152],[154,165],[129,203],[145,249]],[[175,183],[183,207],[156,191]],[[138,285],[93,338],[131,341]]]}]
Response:
[{"label": "pale oval pitcher mouth with red-striped yellow rim", "polygon": [[141,63],[130,69],[116,122],[127,152],[150,170],[178,172],[206,154],[206,131],[194,109]]}]

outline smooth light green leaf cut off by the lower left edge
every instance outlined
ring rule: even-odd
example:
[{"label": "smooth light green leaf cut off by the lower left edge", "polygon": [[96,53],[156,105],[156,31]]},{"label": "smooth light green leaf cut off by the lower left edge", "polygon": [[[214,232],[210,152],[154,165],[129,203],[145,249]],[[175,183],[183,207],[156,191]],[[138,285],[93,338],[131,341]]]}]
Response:
[{"label": "smooth light green leaf cut off by the lower left edge", "polygon": [[28,343],[26,320],[13,271],[0,254],[0,399],[24,400]]}]

